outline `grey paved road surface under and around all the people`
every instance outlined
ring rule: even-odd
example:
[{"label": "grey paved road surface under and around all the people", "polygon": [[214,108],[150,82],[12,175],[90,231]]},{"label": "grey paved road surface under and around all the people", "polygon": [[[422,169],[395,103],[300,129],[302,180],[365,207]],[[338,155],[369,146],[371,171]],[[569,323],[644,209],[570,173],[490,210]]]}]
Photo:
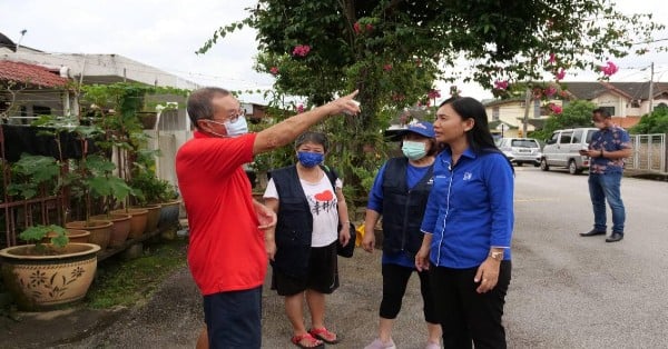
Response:
[{"label": "grey paved road surface under and around all the people", "polygon": [[[606,243],[603,237],[578,236],[592,222],[587,176],[515,169],[513,279],[504,317],[509,347],[668,348],[668,182],[625,178],[627,236]],[[335,348],[363,348],[376,336],[380,256],[357,249],[340,261],[342,286],[327,299],[327,323],[343,339]],[[75,338],[19,343],[17,330],[7,341],[0,336],[0,347],[193,348],[202,326],[199,302],[188,271],[180,270],[145,307],[24,323],[30,330],[80,325]],[[421,307],[412,278],[394,331],[399,348],[424,347]],[[282,298],[268,287],[263,326],[263,348],[295,348]]]}]

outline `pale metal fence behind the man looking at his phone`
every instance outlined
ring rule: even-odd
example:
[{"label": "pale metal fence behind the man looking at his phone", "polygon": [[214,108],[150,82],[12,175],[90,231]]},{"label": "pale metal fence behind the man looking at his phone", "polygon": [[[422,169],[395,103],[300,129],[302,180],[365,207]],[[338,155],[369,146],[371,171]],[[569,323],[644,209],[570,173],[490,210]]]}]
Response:
[{"label": "pale metal fence behind the man looking at his phone", "polygon": [[627,160],[627,169],[668,172],[665,133],[631,134],[631,143],[633,154]]}]

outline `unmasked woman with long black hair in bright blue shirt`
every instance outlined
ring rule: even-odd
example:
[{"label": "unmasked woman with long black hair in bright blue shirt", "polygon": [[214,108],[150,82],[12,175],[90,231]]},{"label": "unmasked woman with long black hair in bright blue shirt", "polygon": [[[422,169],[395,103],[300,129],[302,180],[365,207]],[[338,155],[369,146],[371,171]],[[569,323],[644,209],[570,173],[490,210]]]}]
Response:
[{"label": "unmasked woman with long black hair in bright blue shirt", "polygon": [[512,166],[494,146],[484,106],[475,99],[443,102],[434,131],[446,147],[434,161],[415,267],[429,269],[444,348],[505,348]]}]

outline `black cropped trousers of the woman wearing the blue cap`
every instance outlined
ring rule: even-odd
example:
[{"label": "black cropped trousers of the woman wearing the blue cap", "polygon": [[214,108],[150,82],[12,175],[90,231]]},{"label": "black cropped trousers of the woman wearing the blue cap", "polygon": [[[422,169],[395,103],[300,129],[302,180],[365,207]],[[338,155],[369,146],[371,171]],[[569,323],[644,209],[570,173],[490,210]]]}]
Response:
[{"label": "black cropped trousers of the woman wearing the blue cap", "polygon": [[380,316],[383,319],[395,319],[401,310],[406,285],[413,271],[420,278],[420,292],[422,293],[422,309],[424,320],[430,323],[439,323],[433,295],[429,285],[426,271],[416,271],[415,268],[406,268],[397,265],[383,263],[383,300],[381,300]]}]

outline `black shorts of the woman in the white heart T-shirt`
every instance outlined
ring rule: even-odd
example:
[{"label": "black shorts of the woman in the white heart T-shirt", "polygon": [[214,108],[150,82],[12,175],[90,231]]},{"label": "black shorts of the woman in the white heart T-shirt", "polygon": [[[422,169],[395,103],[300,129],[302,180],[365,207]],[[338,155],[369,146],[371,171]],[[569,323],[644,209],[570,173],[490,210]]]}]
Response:
[{"label": "black shorts of the woman in the white heart T-shirt", "polygon": [[272,269],[272,289],[278,296],[293,296],[307,289],[330,295],[338,288],[338,265],[336,241],[325,247],[312,247],[308,259],[308,273],[292,277]]}]

